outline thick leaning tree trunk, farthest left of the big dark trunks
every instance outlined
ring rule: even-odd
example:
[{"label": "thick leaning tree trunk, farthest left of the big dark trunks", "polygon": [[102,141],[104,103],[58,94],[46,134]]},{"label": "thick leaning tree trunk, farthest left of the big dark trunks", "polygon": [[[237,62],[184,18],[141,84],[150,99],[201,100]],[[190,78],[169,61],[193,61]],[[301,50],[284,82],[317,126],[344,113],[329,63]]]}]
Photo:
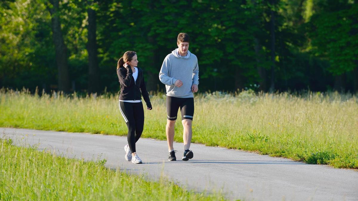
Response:
[{"label": "thick leaning tree trunk, farthest left of the big dark trunks", "polygon": [[67,46],[64,44],[61,22],[59,19],[58,0],[49,0],[52,6],[47,6],[51,14],[52,38],[55,45],[56,63],[58,69],[58,90],[69,92],[70,81],[68,75]]}]

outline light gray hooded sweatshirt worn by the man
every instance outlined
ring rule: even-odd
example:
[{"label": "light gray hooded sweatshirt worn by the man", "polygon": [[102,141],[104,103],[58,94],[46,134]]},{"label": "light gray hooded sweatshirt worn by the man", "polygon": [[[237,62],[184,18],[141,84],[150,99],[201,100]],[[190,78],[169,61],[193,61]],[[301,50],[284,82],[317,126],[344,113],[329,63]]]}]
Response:
[{"label": "light gray hooded sweatshirt worn by the man", "polygon": [[[176,80],[182,80],[183,85],[176,87]],[[180,56],[178,48],[166,55],[159,72],[159,80],[165,84],[166,95],[178,98],[192,98],[192,85],[199,84],[198,58],[188,53],[185,57]]]}]

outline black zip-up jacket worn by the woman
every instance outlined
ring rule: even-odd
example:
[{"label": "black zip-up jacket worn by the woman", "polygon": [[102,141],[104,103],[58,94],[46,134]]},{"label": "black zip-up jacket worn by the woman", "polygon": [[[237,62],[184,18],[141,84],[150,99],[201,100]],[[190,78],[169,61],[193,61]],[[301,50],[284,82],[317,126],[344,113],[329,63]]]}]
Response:
[{"label": "black zip-up jacket worn by the woman", "polygon": [[149,99],[149,93],[145,87],[143,70],[138,68],[138,77],[136,82],[132,76],[132,69],[129,67],[127,70],[125,67],[120,67],[117,70],[118,80],[121,84],[121,94],[119,95],[120,100],[141,100],[143,99],[147,104],[148,108],[152,108]]}]

